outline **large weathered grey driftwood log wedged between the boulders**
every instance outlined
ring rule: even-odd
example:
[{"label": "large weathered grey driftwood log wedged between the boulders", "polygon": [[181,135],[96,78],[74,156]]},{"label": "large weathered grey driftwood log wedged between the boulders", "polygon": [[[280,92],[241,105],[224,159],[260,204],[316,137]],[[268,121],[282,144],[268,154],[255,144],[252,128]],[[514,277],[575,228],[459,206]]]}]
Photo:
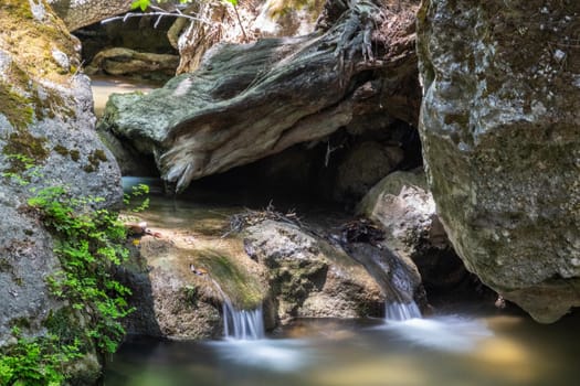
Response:
[{"label": "large weathered grey driftwood log wedged between the boulders", "polygon": [[154,154],[176,191],[319,140],[354,117],[383,114],[416,124],[416,2],[398,13],[350,1],[326,31],[212,47],[201,67],[146,96],[114,96],[101,130]]}]

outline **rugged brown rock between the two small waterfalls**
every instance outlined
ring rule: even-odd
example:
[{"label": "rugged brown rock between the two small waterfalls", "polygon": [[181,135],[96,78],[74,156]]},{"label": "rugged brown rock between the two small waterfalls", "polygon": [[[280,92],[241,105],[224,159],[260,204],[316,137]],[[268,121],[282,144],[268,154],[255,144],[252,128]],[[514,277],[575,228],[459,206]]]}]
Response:
[{"label": "rugged brown rock between the two small waterfalls", "polygon": [[381,314],[380,287],[340,247],[294,224],[271,219],[247,227],[244,244],[267,268],[280,321]]}]

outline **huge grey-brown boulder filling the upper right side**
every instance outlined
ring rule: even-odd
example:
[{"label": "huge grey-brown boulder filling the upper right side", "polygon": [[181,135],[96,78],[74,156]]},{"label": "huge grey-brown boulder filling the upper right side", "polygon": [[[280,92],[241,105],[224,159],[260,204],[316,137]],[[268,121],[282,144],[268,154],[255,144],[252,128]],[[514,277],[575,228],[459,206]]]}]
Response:
[{"label": "huge grey-brown boulder filling the upper right side", "polygon": [[467,269],[540,322],[580,305],[580,2],[431,0],[420,129]]}]

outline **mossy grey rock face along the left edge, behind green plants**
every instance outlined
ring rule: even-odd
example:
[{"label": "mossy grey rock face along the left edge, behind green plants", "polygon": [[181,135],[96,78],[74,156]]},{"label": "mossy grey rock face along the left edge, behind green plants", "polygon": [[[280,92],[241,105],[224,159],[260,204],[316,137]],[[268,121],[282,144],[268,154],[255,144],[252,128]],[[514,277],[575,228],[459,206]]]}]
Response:
[{"label": "mossy grey rock face along the left edge, behind green plants", "polygon": [[103,197],[105,207],[120,204],[120,174],[94,131],[78,49],[44,1],[0,4],[0,346],[15,325],[44,335],[43,322],[63,307],[45,281],[60,270],[53,239],[27,212],[32,191],[63,186]]}]

